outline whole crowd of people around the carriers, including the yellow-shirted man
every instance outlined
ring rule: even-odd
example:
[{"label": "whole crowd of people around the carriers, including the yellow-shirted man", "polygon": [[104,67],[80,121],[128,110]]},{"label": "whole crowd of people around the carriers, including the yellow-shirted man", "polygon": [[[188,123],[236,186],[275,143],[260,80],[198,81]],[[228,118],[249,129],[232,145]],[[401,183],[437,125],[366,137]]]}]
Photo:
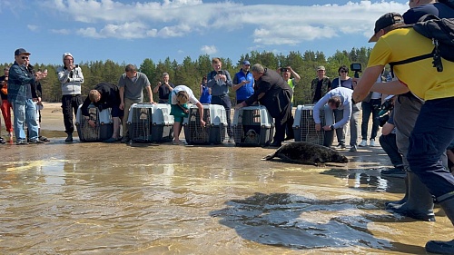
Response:
[{"label": "whole crowd of people around the carriers, including the yellow-shirted man", "polygon": [[[410,0],[410,10],[404,15],[388,13],[380,16],[370,38],[370,42],[377,43],[370,53],[368,67],[360,78],[351,78],[346,65],[339,67],[338,77],[332,80],[326,76],[324,66],[317,67],[317,76],[311,81],[313,121],[316,131],[336,133],[339,142],[337,147],[340,149],[347,149],[345,132],[350,123],[350,152],[357,152],[358,146],[377,145],[375,140],[380,125],[380,108],[383,102],[393,104],[389,120],[381,123],[383,128],[379,141],[394,169],[383,171],[382,175],[406,178],[407,191],[402,200],[389,202],[387,209],[415,219],[434,221],[435,201],[454,224],[454,176],[449,172],[454,165],[454,113],[451,111],[454,103],[454,63],[443,61],[444,71],[437,72],[430,63],[431,59],[419,60],[418,64],[410,62],[395,65],[391,73],[393,75],[388,79],[382,77],[386,64],[432,51],[429,38],[406,26],[428,14],[454,18],[454,10],[436,0]],[[30,55],[23,48],[17,49],[15,63],[5,68],[5,75],[0,77],[1,110],[6,132],[10,139],[15,136],[17,145],[48,142],[39,130],[42,105],[40,81],[45,79],[47,72],[35,71],[29,64]],[[271,147],[280,147],[285,140],[294,138],[293,93],[301,77],[291,66],[271,70],[262,64],[252,65],[248,60],[243,60],[241,70],[231,76],[222,69],[221,59],[214,57],[212,71],[202,77],[200,99],[195,97],[189,87],[171,83],[167,73],[163,74],[162,82],[157,83],[152,91],[148,77],[138,72],[133,64],[126,65],[117,84],[100,83],[86,98],[81,94],[84,75],[82,69],[74,64],[72,54],[63,54],[63,65],[58,68],[57,74],[62,83],[62,109],[67,133],[65,142],[73,142],[74,113],[79,105],[83,105],[81,113],[87,122],[94,126],[87,111],[90,103],[100,111],[112,109],[114,133],[104,142],[129,142],[125,120],[133,103],[143,103],[143,90],[149,95],[149,103],[154,103],[153,93],[158,93],[158,103],[171,104],[174,144],[183,143],[179,136],[183,118],[189,112],[188,102],[197,106],[202,126],[205,125],[202,103],[222,105],[226,111],[228,142],[234,142],[232,106],[240,109],[254,103],[264,105],[274,118],[275,132]],[[230,89],[236,94],[234,103],[229,96]],[[361,142],[358,144],[361,109]],[[13,120],[11,111],[14,113]],[[332,115],[323,126],[321,111]],[[369,134],[370,119],[372,129]],[[5,143],[5,139],[0,137],[0,142]],[[325,145],[331,146],[331,142]],[[434,253],[452,254],[454,240],[429,241],[426,249]]]}]

